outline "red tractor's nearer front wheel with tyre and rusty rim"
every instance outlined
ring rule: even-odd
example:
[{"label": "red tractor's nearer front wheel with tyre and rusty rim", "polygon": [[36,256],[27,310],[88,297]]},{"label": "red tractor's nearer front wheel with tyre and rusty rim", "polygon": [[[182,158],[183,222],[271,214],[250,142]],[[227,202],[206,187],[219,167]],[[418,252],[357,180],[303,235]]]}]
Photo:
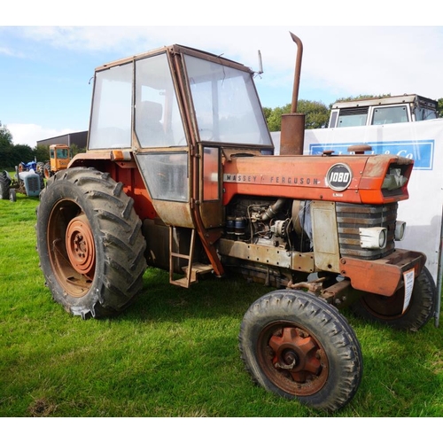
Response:
[{"label": "red tractor's nearer front wheel with tyre and rusty rim", "polygon": [[273,291],[255,301],[239,347],[256,383],[308,407],[342,408],[361,382],[354,330],[338,309],[303,291]]}]

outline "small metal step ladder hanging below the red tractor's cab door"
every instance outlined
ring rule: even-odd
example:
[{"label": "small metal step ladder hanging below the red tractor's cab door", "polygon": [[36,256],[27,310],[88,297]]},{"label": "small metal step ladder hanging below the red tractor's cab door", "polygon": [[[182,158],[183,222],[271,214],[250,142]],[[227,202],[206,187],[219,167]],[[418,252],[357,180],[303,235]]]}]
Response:
[{"label": "small metal step ladder hanging below the red tractor's cab door", "polygon": [[[189,253],[180,253],[175,251],[174,245],[174,226],[169,226],[169,283],[183,288],[189,288],[190,284],[198,281],[198,274],[206,274],[211,272],[213,267],[203,263],[194,263],[194,249],[195,249],[195,229],[190,229],[190,251]],[[186,229],[186,228],[182,228]],[[179,249],[179,245],[177,245]],[[187,266],[183,266],[184,277],[174,278],[174,259],[184,259],[188,261]]]}]

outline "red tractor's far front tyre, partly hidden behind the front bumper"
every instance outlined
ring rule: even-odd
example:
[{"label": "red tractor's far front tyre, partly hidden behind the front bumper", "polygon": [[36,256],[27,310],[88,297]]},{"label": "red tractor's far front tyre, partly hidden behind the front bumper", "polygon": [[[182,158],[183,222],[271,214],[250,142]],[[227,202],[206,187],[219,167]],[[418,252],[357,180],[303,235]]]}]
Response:
[{"label": "red tractor's far front tyre, partly hidden behind the front bumper", "polygon": [[401,288],[392,297],[365,294],[352,306],[356,315],[369,321],[384,323],[400,330],[419,330],[435,312],[437,288],[428,268],[416,277],[409,305],[403,312],[405,291]]}]

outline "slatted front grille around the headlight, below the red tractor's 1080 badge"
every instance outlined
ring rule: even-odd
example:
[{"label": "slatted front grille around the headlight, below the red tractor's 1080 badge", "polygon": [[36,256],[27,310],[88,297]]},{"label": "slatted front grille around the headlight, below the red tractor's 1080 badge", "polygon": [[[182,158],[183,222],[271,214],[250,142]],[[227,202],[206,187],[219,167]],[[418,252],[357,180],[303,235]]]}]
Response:
[{"label": "slatted front grille around the headlight, below the red tractor's 1080 badge", "polygon": [[[340,254],[364,260],[376,260],[392,253],[394,244],[397,203],[381,206],[337,203],[338,243]],[[387,242],[384,249],[362,249],[359,228],[384,227]]]}]

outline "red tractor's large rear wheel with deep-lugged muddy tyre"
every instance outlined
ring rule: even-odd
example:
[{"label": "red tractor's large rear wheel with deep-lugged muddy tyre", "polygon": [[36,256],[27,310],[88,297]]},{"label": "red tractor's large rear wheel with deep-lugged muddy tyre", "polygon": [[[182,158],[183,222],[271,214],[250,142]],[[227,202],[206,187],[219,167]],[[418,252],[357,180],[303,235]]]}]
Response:
[{"label": "red tractor's large rear wheel with deep-lugged muddy tyre", "polygon": [[36,231],[46,283],[72,314],[116,314],[141,290],[141,221],[132,198],[108,174],[76,167],[52,176],[41,193]]}]

